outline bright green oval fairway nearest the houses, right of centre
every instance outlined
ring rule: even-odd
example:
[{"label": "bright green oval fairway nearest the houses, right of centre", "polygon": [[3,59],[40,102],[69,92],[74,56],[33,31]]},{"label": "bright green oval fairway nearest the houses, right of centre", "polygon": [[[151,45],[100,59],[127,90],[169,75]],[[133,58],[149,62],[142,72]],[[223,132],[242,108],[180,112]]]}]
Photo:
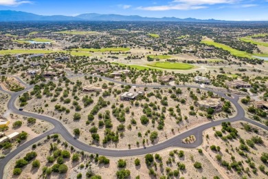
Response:
[{"label": "bright green oval fairway nearest the houses, right of centre", "polygon": [[194,65],[186,64],[186,63],[170,63],[170,62],[156,62],[152,64],[148,64],[150,67],[158,67],[161,69],[168,70],[191,70],[194,68]]}]

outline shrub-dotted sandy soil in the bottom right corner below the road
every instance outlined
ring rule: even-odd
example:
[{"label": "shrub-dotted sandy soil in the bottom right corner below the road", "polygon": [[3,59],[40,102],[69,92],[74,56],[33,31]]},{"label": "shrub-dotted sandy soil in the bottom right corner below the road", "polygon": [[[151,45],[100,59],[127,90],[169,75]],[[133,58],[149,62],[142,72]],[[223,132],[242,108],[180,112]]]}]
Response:
[{"label": "shrub-dotted sandy soil in the bottom right corner below the road", "polygon": [[[263,138],[264,143],[262,145],[255,144],[254,148],[249,147],[249,152],[245,152],[245,154],[248,155],[249,158],[256,164],[256,168],[258,168],[259,165],[263,164],[263,162],[260,160],[260,156],[263,152],[267,152],[267,146],[268,146],[268,135],[267,131],[264,131],[263,129],[253,126],[254,128],[258,129],[258,134],[255,134],[254,132],[248,132],[243,129],[243,125],[241,123],[245,122],[236,122],[232,123],[232,127],[238,130],[239,138],[243,138],[244,140],[252,138],[252,136],[260,136]],[[215,131],[221,131],[221,126],[215,127],[215,129],[208,129],[203,133],[203,153],[208,156],[208,159],[213,162],[220,173],[225,173],[227,178],[241,178],[241,176],[247,176],[248,178],[266,178],[265,173],[258,170],[256,174],[252,172],[252,168],[249,167],[248,163],[245,162],[247,158],[245,156],[241,156],[236,151],[236,148],[239,147],[239,138],[234,140],[227,140],[226,142],[221,140],[219,137],[215,137],[214,133]],[[227,132],[226,132],[227,133]],[[208,138],[206,137],[208,135]],[[225,136],[225,134],[223,134]],[[210,149],[211,145],[219,146],[221,147],[221,151],[216,152],[212,151]],[[228,151],[228,153],[227,153]],[[249,173],[245,173],[243,171],[241,175],[239,175],[234,169],[231,169],[230,171],[227,170],[226,167],[223,167],[217,160],[216,160],[216,154],[220,154],[222,156],[222,160],[226,160],[227,162],[232,162],[231,156],[234,156],[236,161],[242,161],[244,169],[247,167],[249,168]],[[263,164],[264,165],[264,164]],[[267,167],[266,167],[267,170]]]}]

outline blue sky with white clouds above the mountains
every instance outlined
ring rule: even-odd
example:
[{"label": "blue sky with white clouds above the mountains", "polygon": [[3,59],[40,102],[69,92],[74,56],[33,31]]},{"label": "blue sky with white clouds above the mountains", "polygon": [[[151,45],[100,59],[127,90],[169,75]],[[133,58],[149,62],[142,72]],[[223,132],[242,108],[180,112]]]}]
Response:
[{"label": "blue sky with white clouds above the mountains", "polygon": [[0,0],[0,10],[34,14],[140,15],[222,20],[268,20],[268,0]]}]

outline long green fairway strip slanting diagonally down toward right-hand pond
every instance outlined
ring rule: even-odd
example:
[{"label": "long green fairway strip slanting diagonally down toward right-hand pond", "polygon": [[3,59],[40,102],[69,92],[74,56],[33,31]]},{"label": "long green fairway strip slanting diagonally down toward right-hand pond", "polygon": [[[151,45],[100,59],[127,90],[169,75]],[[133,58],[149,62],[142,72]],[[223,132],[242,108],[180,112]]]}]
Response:
[{"label": "long green fairway strip slanting diagonally down toward right-hand pond", "polygon": [[222,43],[216,43],[214,41],[205,41],[205,40],[201,41],[201,43],[205,43],[206,45],[213,45],[216,48],[222,48],[223,50],[229,51],[234,56],[240,56],[240,57],[246,57],[246,58],[249,58],[249,59],[254,59],[252,57],[252,54],[249,54],[247,52],[243,52],[243,51],[240,51],[240,50],[236,50],[236,49],[231,48],[230,46],[224,45]]}]

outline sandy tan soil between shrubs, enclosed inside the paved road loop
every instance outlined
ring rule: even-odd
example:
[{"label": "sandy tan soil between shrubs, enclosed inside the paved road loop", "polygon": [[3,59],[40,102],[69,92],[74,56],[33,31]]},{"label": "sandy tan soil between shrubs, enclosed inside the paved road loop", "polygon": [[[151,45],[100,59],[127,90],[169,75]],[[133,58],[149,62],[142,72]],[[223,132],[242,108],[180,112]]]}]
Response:
[{"label": "sandy tan soil between shrubs, enclosed inside the paved road loop", "polygon": [[[79,78],[79,79],[82,80],[83,78]],[[71,80],[76,81],[76,79],[71,79]],[[102,86],[102,83],[108,84],[107,81],[98,82],[100,86]],[[87,85],[87,82],[84,81],[82,82],[82,84]],[[69,87],[71,88],[71,86]],[[113,87],[113,89],[122,89],[122,88],[117,85]],[[139,89],[137,89],[137,91],[138,90]],[[165,121],[164,129],[162,130],[157,129],[157,126],[158,126],[157,121],[155,121],[155,124],[153,124],[150,120],[150,123],[148,123],[148,125],[142,125],[140,122],[140,117],[144,115],[144,113],[142,112],[143,107],[141,107],[142,103],[153,102],[156,105],[159,105],[159,109],[153,110],[153,112],[155,111],[155,112],[161,113],[161,108],[163,107],[163,105],[161,105],[160,103],[161,100],[159,98],[156,98],[155,96],[151,96],[149,98],[150,101],[148,102],[144,100],[139,101],[140,105],[136,107],[135,105],[131,105],[129,101],[120,101],[119,96],[114,97],[113,95],[111,95],[111,96],[105,97],[104,100],[110,101],[111,105],[115,104],[116,107],[119,107],[120,104],[123,104],[124,108],[126,107],[130,108],[130,112],[125,114],[126,122],[123,123],[125,125],[125,129],[123,131],[124,136],[120,137],[119,143],[107,143],[107,145],[102,145],[102,139],[104,138],[105,127],[99,127],[98,134],[100,135],[100,147],[111,147],[111,148],[117,148],[117,149],[129,148],[129,145],[131,145],[131,148],[142,147],[143,138],[145,138],[145,140],[148,140],[148,143],[146,143],[146,145],[154,145],[156,143],[161,143],[165,141],[167,138],[177,136],[177,134],[180,134],[182,131],[186,131],[187,129],[190,129],[192,127],[197,127],[197,125],[201,125],[203,123],[211,122],[212,120],[209,120],[205,116],[200,116],[199,113],[205,114],[205,112],[201,111],[198,107],[194,106],[194,101],[191,98],[189,98],[190,92],[187,89],[181,89],[181,90],[182,90],[182,94],[179,95],[179,98],[187,99],[186,104],[181,104],[181,103],[178,103],[177,101],[172,100],[172,98],[170,98],[170,94],[168,93],[168,89],[163,89],[163,94],[161,94],[161,96],[168,97],[168,106],[166,107],[167,109],[166,113],[164,113],[166,118],[164,120]],[[104,90],[102,90],[102,92],[103,91]],[[195,89],[193,89],[193,91],[195,92]],[[102,96],[102,92],[100,92],[100,96]],[[156,90],[148,89],[146,94],[150,92],[155,93]],[[201,94],[203,93],[204,92],[201,91]],[[197,96],[201,96],[201,94],[197,94]],[[59,103],[59,101],[50,102],[52,98],[45,98],[45,97],[43,97],[42,99],[33,98],[31,101],[28,101],[28,105],[25,107],[25,110],[30,111],[30,112],[38,112],[38,109],[44,109],[43,115],[52,116],[53,118],[60,119],[60,121],[65,123],[65,126],[67,127],[67,129],[69,130],[71,134],[73,134],[74,129],[76,128],[80,129],[79,140],[87,144],[92,144],[91,133],[89,132],[89,129],[91,129],[91,127],[93,126],[98,127],[99,120],[102,120],[101,118],[98,118],[98,114],[104,114],[106,110],[109,110],[112,113],[113,109],[111,108],[111,105],[100,109],[100,112],[98,112],[98,114],[95,116],[92,123],[90,123],[89,125],[85,125],[87,121],[87,115],[89,114],[91,109],[93,109],[94,105],[96,104],[99,98],[99,96],[95,96],[95,93],[93,93],[92,98],[93,98],[94,103],[92,105],[89,105],[89,107],[83,107],[84,105],[81,99],[83,96],[86,96],[86,95],[91,96],[91,94],[83,94],[83,93],[78,92],[78,96],[80,98],[80,101],[78,102],[79,102],[79,105],[82,107],[82,110],[78,112],[81,114],[80,120],[73,120],[72,116],[74,116],[75,109],[72,109],[73,107],[71,103],[63,104],[63,103]],[[69,96],[69,98],[71,98],[71,101],[72,101],[72,97]],[[47,107],[45,107],[44,101],[45,103],[48,104]],[[66,114],[65,112],[57,112],[54,109],[54,106],[56,104],[60,104],[62,106],[67,107],[67,109],[70,109],[70,113]],[[168,112],[168,108],[173,107],[175,114],[177,114],[175,106],[178,104],[181,109],[181,116],[183,118],[183,120],[180,123],[177,123],[176,118],[170,115],[170,112]],[[188,114],[190,112],[190,105],[194,106],[194,111],[197,113],[197,116],[190,116]],[[188,116],[188,119],[184,120],[184,116]],[[137,121],[137,125],[131,125],[132,118]],[[214,118],[215,120],[223,119],[225,118],[225,114],[223,112],[216,113],[216,115],[214,115]],[[120,125],[121,123],[113,116],[113,114],[111,114],[111,121],[113,124],[112,131],[116,131],[118,125]],[[129,125],[131,125],[131,129],[128,128]],[[172,131],[172,129],[174,130]],[[145,135],[146,131],[148,130],[158,131],[158,138],[155,141],[155,143],[150,143],[150,139],[149,139],[150,134],[148,134],[147,136]],[[142,136],[143,136],[142,138],[137,135],[138,132],[142,133]],[[136,144],[137,142],[139,142],[139,145]],[[97,146],[99,145],[97,144]]]}]

